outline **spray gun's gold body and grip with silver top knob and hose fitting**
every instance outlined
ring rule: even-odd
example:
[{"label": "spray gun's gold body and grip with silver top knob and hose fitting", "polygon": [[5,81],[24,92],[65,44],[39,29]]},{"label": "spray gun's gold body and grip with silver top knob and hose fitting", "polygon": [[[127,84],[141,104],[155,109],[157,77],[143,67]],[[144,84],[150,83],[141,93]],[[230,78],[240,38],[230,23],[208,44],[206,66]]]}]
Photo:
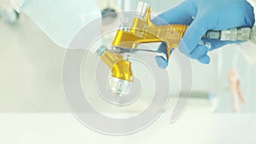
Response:
[{"label": "spray gun's gold body and grip with silver top knob and hose fitting", "polygon": [[[125,49],[137,49],[140,43],[166,43],[166,54],[170,54],[173,48],[177,48],[184,33],[189,26],[186,25],[166,25],[156,26],[151,20],[151,8],[148,3],[138,3],[137,16],[129,29],[121,28],[113,40],[113,47]],[[204,37],[220,39],[221,41],[246,41],[255,39],[255,27],[232,28],[224,31],[209,31]],[[202,37],[203,38],[203,37]],[[211,49],[212,44],[203,42],[207,48]],[[169,59],[170,55],[166,55]]]}]

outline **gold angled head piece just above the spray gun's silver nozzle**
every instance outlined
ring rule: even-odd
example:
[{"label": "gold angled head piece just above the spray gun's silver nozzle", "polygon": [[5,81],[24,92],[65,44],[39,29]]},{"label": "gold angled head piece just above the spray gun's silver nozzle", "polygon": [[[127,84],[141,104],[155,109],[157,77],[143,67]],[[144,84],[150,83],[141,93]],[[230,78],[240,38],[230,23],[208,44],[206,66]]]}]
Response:
[{"label": "gold angled head piece just above the spray gun's silver nozzle", "polygon": [[130,82],[133,81],[131,62],[125,60],[123,55],[119,55],[107,50],[101,58],[111,69],[112,77],[123,79]]}]

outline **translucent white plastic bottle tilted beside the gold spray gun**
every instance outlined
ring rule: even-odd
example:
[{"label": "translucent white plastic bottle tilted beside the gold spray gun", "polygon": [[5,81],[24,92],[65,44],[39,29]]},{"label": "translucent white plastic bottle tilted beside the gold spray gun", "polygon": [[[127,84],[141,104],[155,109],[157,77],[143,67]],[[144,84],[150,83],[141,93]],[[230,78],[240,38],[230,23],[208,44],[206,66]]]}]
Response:
[{"label": "translucent white plastic bottle tilted beside the gold spray gun", "polygon": [[[89,48],[101,34],[102,15],[94,0],[12,0],[12,4],[63,48]],[[84,43],[70,45],[80,31]]]}]

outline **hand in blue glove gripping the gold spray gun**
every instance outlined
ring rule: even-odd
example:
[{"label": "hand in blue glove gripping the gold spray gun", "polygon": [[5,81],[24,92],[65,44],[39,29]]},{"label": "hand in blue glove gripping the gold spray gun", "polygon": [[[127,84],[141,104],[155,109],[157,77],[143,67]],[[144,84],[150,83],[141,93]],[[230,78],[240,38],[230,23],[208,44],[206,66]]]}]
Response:
[{"label": "hand in blue glove gripping the gold spray gun", "polygon": [[[234,27],[252,27],[255,20],[253,7],[247,0],[185,0],[174,9],[160,14],[154,19],[156,25],[185,24],[189,28],[183,36],[183,43],[179,43],[179,50],[190,58],[199,60],[201,63],[209,64],[209,50],[217,49],[224,44],[232,42],[221,42],[217,39],[201,39],[207,31],[221,31]],[[212,43],[211,49],[199,44]],[[166,52],[166,45],[161,44],[159,51]],[[168,55],[168,54],[166,54]],[[160,68],[168,66],[168,60],[161,56],[156,57]]]}]

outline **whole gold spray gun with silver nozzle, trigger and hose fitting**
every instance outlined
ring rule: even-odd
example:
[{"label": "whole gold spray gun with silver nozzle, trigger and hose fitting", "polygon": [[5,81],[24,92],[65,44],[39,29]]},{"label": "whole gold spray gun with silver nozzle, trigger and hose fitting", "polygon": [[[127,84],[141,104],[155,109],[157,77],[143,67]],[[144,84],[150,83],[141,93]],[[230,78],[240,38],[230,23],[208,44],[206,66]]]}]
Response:
[{"label": "whole gold spray gun with silver nozzle, trigger and hose fitting", "polygon": [[[125,58],[122,54],[134,54],[137,51],[147,51],[160,53],[150,49],[137,49],[141,43],[166,43],[167,54],[170,54],[172,49],[178,47],[184,33],[188,26],[186,25],[166,25],[156,26],[151,20],[151,8],[147,3],[138,3],[138,15],[134,18],[132,26],[127,28],[120,26],[115,38],[113,39],[112,48],[108,49],[102,45],[97,50],[97,55],[108,65],[111,71],[109,77],[109,84],[114,94],[123,96],[129,94],[129,84],[134,80],[133,72],[131,70],[131,61]],[[256,27],[242,27],[233,28],[224,31],[207,32],[205,37],[218,38],[222,41],[236,41],[236,40],[256,40]],[[206,44],[211,48],[211,43]],[[169,60],[170,55],[166,55]]]}]

